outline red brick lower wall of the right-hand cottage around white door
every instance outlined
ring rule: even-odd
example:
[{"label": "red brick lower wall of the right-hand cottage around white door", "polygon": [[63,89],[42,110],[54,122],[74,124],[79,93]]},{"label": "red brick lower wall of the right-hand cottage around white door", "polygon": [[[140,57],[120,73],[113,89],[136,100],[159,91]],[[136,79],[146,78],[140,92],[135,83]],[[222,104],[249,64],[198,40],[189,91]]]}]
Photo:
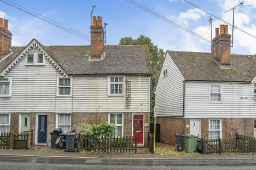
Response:
[{"label": "red brick lower wall of the right-hand cottage around white door", "polygon": [[[189,134],[189,118],[157,117],[161,142],[175,145],[175,134]],[[222,139],[236,138],[236,133],[253,136],[254,118],[221,118]],[[188,127],[188,128],[187,128]],[[201,137],[209,138],[209,118],[201,118]]]}]

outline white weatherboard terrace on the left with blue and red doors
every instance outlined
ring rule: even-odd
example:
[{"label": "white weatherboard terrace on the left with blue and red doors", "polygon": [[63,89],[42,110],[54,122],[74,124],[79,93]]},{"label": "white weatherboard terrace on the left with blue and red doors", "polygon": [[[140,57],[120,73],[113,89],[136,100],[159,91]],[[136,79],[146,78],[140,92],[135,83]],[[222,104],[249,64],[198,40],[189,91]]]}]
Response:
[{"label": "white weatherboard terrace on the left with blue and red doors", "polygon": [[79,131],[82,123],[109,122],[119,136],[137,133],[138,145],[145,145],[148,47],[104,46],[97,23],[91,46],[43,46],[33,39],[26,47],[11,47],[11,37],[4,36],[11,32],[0,28],[0,40],[9,46],[0,47],[1,54],[6,50],[0,56],[0,133],[31,131],[35,145],[46,145],[55,128]]}]

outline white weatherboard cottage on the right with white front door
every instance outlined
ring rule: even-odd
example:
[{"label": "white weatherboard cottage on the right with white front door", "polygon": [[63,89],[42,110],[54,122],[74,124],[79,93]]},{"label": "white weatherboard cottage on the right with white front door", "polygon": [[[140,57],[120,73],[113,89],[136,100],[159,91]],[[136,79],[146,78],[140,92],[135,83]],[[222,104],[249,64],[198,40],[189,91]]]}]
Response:
[{"label": "white weatherboard cottage on the right with white front door", "polygon": [[216,29],[212,54],[167,51],[155,90],[161,141],[256,135],[256,56],[230,55],[227,29]]}]

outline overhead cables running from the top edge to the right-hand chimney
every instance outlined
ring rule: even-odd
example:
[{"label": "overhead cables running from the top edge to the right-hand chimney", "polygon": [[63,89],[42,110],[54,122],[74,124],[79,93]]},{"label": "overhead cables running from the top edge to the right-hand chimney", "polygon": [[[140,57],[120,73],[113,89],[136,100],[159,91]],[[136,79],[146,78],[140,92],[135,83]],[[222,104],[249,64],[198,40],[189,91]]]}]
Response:
[{"label": "overhead cables running from the top edge to the right-hand chimney", "polygon": [[[191,33],[192,35],[196,36],[197,38],[200,38],[200,39],[206,41],[207,43],[210,43],[210,44],[211,44],[211,41],[210,41],[210,40],[208,40],[208,39],[206,39],[206,38],[204,38],[204,37],[198,35],[197,33],[193,32],[193,31],[191,31],[191,30],[189,30],[189,29],[187,29],[187,28],[185,28],[185,27],[182,27],[182,26],[181,26],[180,24],[178,24],[178,23],[175,23],[175,22],[173,22],[173,21],[171,21],[171,20],[165,18],[163,15],[160,15],[160,14],[158,14],[158,13],[152,11],[152,10],[149,10],[149,8],[147,8],[147,7],[145,7],[145,6],[141,5],[141,4],[139,4],[139,3],[137,3],[137,2],[134,2],[134,1],[132,1],[132,0],[126,0],[126,1],[129,2],[129,3],[131,3],[131,4],[133,4],[133,5],[135,5],[135,6],[137,6],[137,7],[139,7],[139,8],[141,8],[141,9],[144,10],[144,11],[147,11],[147,12],[149,12],[149,13],[151,13],[151,14],[157,16],[158,18],[160,18],[160,19],[162,19],[162,20],[164,20],[164,21],[166,21],[166,22],[168,22],[168,23],[173,24],[174,26],[176,26],[176,27],[178,27],[178,28],[180,28],[180,29],[182,29],[182,30],[188,32],[188,33]],[[232,53],[232,54],[235,54],[235,53],[233,53],[233,52],[231,52],[231,53]]]}]

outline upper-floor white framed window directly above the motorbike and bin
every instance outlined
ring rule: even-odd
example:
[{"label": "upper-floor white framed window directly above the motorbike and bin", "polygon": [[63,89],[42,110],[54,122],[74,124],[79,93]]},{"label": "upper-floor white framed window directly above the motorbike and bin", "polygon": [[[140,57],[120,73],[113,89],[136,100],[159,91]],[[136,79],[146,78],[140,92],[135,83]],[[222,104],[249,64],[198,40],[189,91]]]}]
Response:
[{"label": "upper-floor white framed window directly above the motorbike and bin", "polygon": [[57,96],[72,96],[73,79],[70,78],[57,78]]}]

